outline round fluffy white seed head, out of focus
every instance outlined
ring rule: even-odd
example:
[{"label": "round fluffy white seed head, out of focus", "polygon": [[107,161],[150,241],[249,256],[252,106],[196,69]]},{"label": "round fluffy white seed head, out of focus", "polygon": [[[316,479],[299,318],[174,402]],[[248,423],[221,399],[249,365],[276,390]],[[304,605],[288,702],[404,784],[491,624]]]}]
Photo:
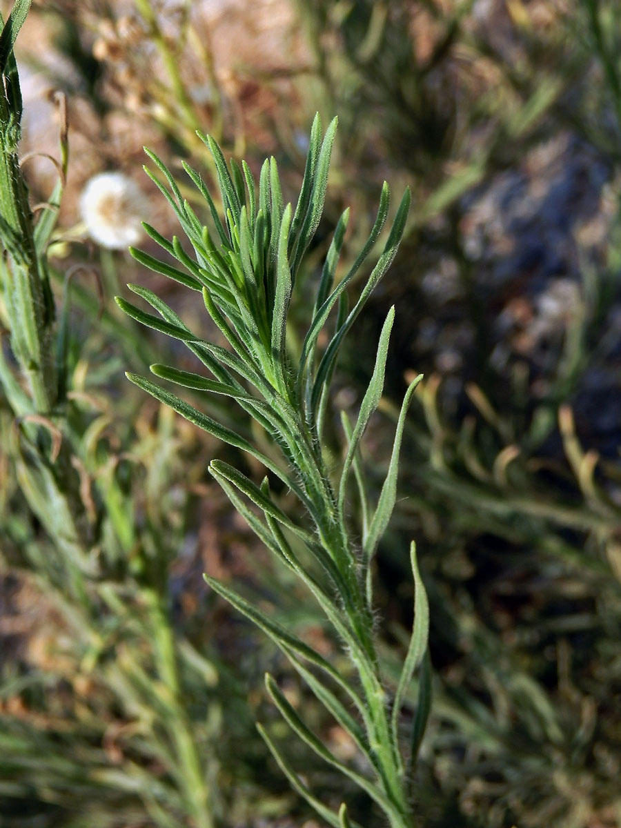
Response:
[{"label": "round fluffy white seed head, out of focus", "polygon": [[140,187],[121,172],[102,172],[87,181],[79,211],[89,236],[104,248],[122,250],[142,238],[148,202]]}]

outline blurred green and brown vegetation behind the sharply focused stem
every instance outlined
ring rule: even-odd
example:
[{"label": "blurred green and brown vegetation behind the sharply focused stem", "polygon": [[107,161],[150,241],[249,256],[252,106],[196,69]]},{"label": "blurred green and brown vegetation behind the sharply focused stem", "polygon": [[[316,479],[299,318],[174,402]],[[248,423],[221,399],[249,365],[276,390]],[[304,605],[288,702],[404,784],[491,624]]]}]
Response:
[{"label": "blurred green and brown vegetation behind the sharply focused stem", "polygon": [[[66,419],[57,434],[53,412],[33,419],[3,382],[2,828],[310,825],[315,817],[254,729],[260,718],[289,738],[266,699],[266,669],[333,752],[352,755],[275,648],[201,578],[243,583],[264,611],[339,658],[314,607],[209,478],[209,460],[232,460],[233,450],[123,376],[144,373],[153,354],[184,359],[118,311],[113,296],[126,282],[166,296],[193,330],[204,313],[187,291],[90,240],[79,213],[91,176],[123,171],[145,194],[144,218],[176,232],[142,175],[142,146],[174,171],[189,161],[211,179],[197,128],[255,171],[274,154],[291,197],[315,110],[326,123],[338,114],[339,132],[301,273],[308,296],[344,206],[354,228],[347,260],[368,236],[383,179],[413,194],[397,260],[357,322],[336,383],[354,416],[395,304],[366,450],[379,489],[406,383],[425,373],[376,571],[378,645],[397,677],[416,537],[433,667],[419,823],[621,826],[616,6],[34,4],[17,44],[21,154],[31,205],[58,219],[46,258]],[[59,94],[70,125],[66,180]],[[41,153],[60,159],[60,173]],[[150,244],[142,248],[155,253]],[[296,314],[306,319],[304,291],[298,301],[294,333]],[[8,376],[6,297],[0,320]],[[219,416],[248,427],[233,408]],[[335,432],[325,439],[340,451]],[[326,802],[343,797],[341,780],[303,746],[286,747]],[[362,799],[356,808],[369,813]]]}]

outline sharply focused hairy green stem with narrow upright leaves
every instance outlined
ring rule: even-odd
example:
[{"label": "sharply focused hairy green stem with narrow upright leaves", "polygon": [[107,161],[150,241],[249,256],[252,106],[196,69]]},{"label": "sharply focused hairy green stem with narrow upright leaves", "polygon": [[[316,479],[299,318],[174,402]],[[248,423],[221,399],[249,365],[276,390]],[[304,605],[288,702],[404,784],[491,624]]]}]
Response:
[{"label": "sharply focused hairy green stem with narrow upright leaves", "polygon": [[[377,217],[366,243],[353,265],[338,278],[337,267],[349,219],[349,210],[344,211],[325,258],[310,323],[299,354],[293,353],[286,330],[291,294],[324,206],[335,129],[336,119],[322,135],[320,118],[315,116],[295,209],[291,204],[284,204],[277,163],[273,158],[264,162],[257,185],[247,164],[239,166],[231,161],[228,165],[214,139],[201,136],[214,160],[223,215],[216,209],[200,174],[188,165],[184,167],[205,199],[211,229],[201,222],[189,202],[182,197],[180,186],[164,163],[147,151],[156,166],[156,172],[147,170],[147,174],[174,210],[193,255],[185,251],[179,238],[168,240],[148,224],[144,226],[149,236],[176,259],[176,265],[135,249],[132,249],[132,255],[155,272],[200,292],[205,309],[228,348],[195,335],[170,306],[147,288],[129,286],[156,310],[157,315],[123,298],[117,301],[135,320],[184,342],[208,369],[211,378],[161,363],[152,365],[152,373],[182,388],[233,398],[267,431],[280,449],[284,464],[282,460],[273,460],[272,456],[258,450],[253,442],[151,379],[128,374],[133,383],[195,425],[253,455],[296,494],[308,517],[309,525],[306,527],[289,517],[278,505],[267,477],[258,485],[222,461],[213,460],[209,465],[214,479],[248,525],[310,590],[346,648],[359,686],[341,676],[330,661],[312,647],[267,618],[252,601],[243,599],[214,579],[208,578],[208,583],[277,643],[321,704],[352,736],[368,762],[370,776],[354,772],[335,758],[268,676],[267,691],[296,734],[321,758],[339,768],[367,792],[388,816],[392,826],[411,826],[412,773],[407,771],[402,758],[400,712],[407,687],[421,666],[426,651],[428,608],[412,545],[412,570],[416,584],[415,625],[391,706],[383,686],[373,640],[371,561],[396,502],[402,433],[407,408],[420,378],[410,385],[403,400],[388,474],[374,508],[369,503],[359,455],[363,432],[382,396],[394,308],[389,311],[383,325],[373,376],[363,397],[358,419],[351,424],[347,416],[342,417],[346,450],[337,489],[332,488],[321,445],[322,429],[329,410],[330,383],[339,349],[373,288],[397,253],[406,226],[409,191],[402,197],[382,252],[351,308],[347,288],[373,253],[386,223],[390,195],[388,185],[383,185]],[[355,532],[347,513],[352,471],[362,515],[362,525]],[[258,516],[256,508],[262,517]],[[359,538],[362,556],[357,554]],[[428,670],[424,675],[426,690],[421,691],[421,705],[414,722],[409,750],[411,764],[429,710]],[[336,814],[318,802],[296,777],[267,731],[261,729],[261,733],[296,791],[306,797],[331,825],[348,824],[346,812],[341,809]]]}]

